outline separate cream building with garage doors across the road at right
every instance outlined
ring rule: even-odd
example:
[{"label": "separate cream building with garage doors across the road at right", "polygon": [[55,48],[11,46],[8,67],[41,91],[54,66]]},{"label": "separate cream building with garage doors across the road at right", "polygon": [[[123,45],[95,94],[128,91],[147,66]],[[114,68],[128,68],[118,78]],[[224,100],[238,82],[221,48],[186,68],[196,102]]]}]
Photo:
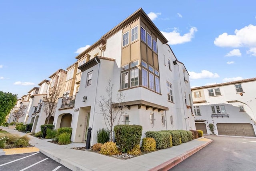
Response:
[{"label": "separate cream building with garage doors across the road at right", "polygon": [[256,78],[192,88],[196,129],[210,134],[255,137]]}]

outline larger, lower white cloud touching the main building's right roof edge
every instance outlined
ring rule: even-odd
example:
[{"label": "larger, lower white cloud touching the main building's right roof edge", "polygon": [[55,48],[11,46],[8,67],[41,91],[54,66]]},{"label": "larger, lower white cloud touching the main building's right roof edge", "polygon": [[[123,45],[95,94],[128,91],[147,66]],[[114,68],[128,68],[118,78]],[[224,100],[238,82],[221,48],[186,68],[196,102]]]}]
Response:
[{"label": "larger, lower white cloud touching the main building's right roof edge", "polygon": [[189,32],[184,34],[183,36],[180,35],[177,28],[174,28],[172,32],[161,32],[164,35],[164,37],[166,37],[166,39],[168,40],[168,44],[174,45],[190,42],[191,39],[194,38],[195,32],[197,32],[197,28],[191,27]]}]

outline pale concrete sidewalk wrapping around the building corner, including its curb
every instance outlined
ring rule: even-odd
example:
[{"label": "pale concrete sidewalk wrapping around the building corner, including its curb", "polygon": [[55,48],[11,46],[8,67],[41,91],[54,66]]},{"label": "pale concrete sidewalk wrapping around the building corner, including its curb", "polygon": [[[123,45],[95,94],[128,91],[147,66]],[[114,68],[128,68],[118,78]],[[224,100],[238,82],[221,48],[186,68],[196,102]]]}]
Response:
[{"label": "pale concrete sidewalk wrapping around the building corner, including its curb", "polygon": [[[1,128],[12,134],[25,135],[24,132],[18,132],[14,129]],[[212,142],[211,139],[201,138],[168,149],[161,149],[131,159],[121,160],[90,151],[71,149],[72,147],[84,147],[85,143],[57,145],[47,142],[51,141],[51,139],[38,139],[28,136],[31,138],[29,143],[40,149],[41,153],[72,171],[168,170]]]}]

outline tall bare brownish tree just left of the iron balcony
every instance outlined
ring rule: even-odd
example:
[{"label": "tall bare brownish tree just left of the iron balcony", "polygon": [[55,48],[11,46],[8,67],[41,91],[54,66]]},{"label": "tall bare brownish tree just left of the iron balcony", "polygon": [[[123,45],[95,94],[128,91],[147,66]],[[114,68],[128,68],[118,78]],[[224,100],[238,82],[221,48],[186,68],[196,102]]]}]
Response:
[{"label": "tall bare brownish tree just left of the iron balcony", "polygon": [[61,74],[63,71],[60,69],[55,73],[49,85],[48,93],[43,97],[42,110],[46,113],[47,124],[49,124],[50,118],[56,111],[58,98],[62,95],[64,79],[66,78]]}]

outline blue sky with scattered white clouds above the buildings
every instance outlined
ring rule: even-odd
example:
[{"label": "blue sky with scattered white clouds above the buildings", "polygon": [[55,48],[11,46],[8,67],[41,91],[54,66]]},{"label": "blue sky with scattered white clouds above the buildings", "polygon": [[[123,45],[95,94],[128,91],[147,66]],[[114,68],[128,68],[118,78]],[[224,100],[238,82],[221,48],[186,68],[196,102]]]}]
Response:
[{"label": "blue sky with scattered white clouds above the buildings", "polygon": [[[256,1],[0,1],[0,90],[27,94],[140,7],[191,87],[254,78]],[[111,56],[107,56],[111,58]]]}]

